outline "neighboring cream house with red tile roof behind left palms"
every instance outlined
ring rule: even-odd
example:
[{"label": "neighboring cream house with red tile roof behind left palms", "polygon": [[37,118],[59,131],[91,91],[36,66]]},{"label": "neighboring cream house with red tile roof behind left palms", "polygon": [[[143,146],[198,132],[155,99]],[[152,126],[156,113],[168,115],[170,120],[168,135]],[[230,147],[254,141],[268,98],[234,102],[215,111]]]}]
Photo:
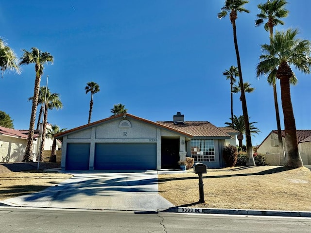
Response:
[{"label": "neighboring cream house with red tile roof behind left palms", "polygon": [[[51,127],[51,126],[47,126]],[[33,160],[39,153],[41,138],[39,131],[34,132]],[[14,130],[0,126],[0,163],[21,162],[27,146],[28,130]],[[44,150],[51,150],[53,138],[46,138]],[[61,142],[56,140],[56,150],[61,148]]]}]

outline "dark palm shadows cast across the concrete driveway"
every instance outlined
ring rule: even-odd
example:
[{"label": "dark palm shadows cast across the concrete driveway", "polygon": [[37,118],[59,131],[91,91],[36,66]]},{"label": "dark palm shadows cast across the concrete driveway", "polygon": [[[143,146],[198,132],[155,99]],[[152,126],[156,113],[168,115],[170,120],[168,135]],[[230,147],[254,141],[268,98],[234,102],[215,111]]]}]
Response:
[{"label": "dark palm shadows cast across the concrete driveway", "polygon": [[[157,179],[143,179],[143,180],[127,180],[123,178],[114,179],[89,179],[83,180],[77,179],[75,177],[66,180],[65,182],[56,184],[54,186],[41,186],[41,190],[36,193],[26,195],[22,198],[23,201],[66,201],[71,197],[76,195],[85,196],[113,196],[114,193],[145,193],[154,192],[153,188],[150,188],[151,184],[156,184]],[[79,178],[79,177],[78,177]],[[71,180],[71,182],[69,181]],[[52,183],[52,182],[51,182]],[[22,185],[24,188],[32,189],[34,185]],[[20,185],[12,186],[11,191],[19,192],[21,189]]]}]

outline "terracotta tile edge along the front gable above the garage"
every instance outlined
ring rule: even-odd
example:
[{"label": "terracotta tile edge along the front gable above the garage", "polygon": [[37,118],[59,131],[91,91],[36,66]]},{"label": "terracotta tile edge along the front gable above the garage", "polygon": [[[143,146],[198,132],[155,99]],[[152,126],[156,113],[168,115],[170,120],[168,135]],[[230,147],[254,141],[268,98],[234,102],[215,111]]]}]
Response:
[{"label": "terracotta tile edge along the front gable above the garage", "polygon": [[94,126],[94,125],[97,125],[97,124],[101,124],[101,123],[109,121],[109,120],[113,120],[113,119],[116,119],[116,118],[121,118],[123,116],[129,116],[129,117],[137,119],[139,121],[143,121],[143,122],[155,125],[156,127],[161,127],[161,128],[167,129],[167,130],[174,131],[176,133],[180,133],[180,134],[186,135],[188,137],[193,137],[193,135],[190,134],[190,133],[187,133],[187,132],[184,132],[184,131],[180,131],[180,130],[175,129],[175,128],[170,128],[170,127],[167,127],[165,125],[158,124],[156,122],[153,122],[153,121],[150,121],[150,120],[146,120],[144,118],[141,118],[141,117],[138,117],[138,116],[134,116],[134,115],[131,115],[131,114],[128,114],[128,113],[120,114],[120,115],[117,115],[117,116],[110,116],[108,118],[105,118],[105,119],[102,119],[102,120],[98,120],[98,121],[95,121],[95,122],[92,122],[92,123],[89,123],[89,124],[86,124],[86,125],[82,125],[82,126],[73,128],[71,130],[67,130],[67,131],[64,131],[64,132],[61,132],[61,133],[57,133],[57,134],[54,135],[54,137],[55,138],[60,138],[60,137],[64,136],[65,134],[69,134],[69,133],[72,133],[72,132],[75,132],[75,131],[83,130],[83,129],[86,129],[88,127],[91,127],[91,126]]}]

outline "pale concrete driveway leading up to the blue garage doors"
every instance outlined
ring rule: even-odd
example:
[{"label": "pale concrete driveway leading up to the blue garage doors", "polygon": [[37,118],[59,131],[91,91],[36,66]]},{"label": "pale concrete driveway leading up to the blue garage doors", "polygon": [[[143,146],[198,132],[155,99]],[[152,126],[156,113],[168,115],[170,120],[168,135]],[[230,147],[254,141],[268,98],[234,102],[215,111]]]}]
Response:
[{"label": "pale concrete driveway leading up to the blue garage doors", "polygon": [[11,206],[160,211],[174,205],[158,194],[157,171],[70,173],[43,191],[1,201]]}]

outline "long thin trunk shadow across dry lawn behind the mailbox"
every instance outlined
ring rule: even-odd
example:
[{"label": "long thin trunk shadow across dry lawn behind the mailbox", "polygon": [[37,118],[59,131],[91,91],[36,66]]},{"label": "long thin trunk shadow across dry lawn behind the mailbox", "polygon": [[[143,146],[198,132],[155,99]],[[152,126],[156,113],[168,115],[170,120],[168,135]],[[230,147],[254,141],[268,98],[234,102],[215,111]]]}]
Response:
[{"label": "long thin trunk shadow across dry lawn behind the mailbox", "polygon": [[[245,167],[242,169],[246,169],[250,167]],[[283,171],[288,171],[288,170],[293,170],[296,169],[294,167],[289,167],[289,166],[280,166],[280,167],[275,167],[271,168],[268,170],[260,171],[257,173],[242,173],[242,174],[231,174],[231,175],[219,175],[219,176],[203,176],[203,179],[209,179],[209,178],[228,178],[228,177],[238,177],[238,176],[258,176],[258,175],[269,175],[269,174],[275,174]],[[235,169],[231,170],[234,171]],[[241,168],[238,168],[237,170],[241,170]],[[209,173],[207,171],[207,173]],[[206,175],[206,174],[204,174]],[[161,182],[167,182],[167,181],[178,181],[178,180],[192,180],[192,179],[198,179],[198,177],[176,177],[176,178],[160,178],[159,183]]]}]

